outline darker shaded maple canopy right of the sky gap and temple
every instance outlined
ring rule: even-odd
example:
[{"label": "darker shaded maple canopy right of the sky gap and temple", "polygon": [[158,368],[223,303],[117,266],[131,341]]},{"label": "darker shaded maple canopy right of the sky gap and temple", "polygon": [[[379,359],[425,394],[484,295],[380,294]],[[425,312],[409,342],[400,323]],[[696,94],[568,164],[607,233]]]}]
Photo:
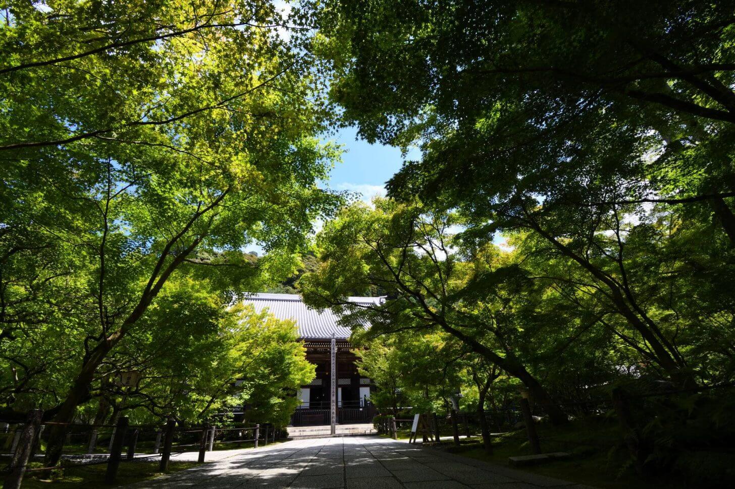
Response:
[{"label": "darker shaded maple canopy right of the sky gap and temple", "polygon": [[[703,392],[639,411],[638,466],[670,468],[688,442],[669,421],[732,399],[732,11],[324,3],[317,49],[341,121],[420,159],[387,182],[391,200],[325,226],[309,300],[389,337],[442,330],[523,380],[517,360],[545,405],[603,386]],[[383,305],[345,300],[366,283]]]}]

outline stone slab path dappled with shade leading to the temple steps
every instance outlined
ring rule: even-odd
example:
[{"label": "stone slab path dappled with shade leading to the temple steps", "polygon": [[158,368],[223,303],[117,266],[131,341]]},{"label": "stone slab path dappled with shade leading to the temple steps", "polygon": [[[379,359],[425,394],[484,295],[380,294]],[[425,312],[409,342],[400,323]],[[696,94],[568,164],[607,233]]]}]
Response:
[{"label": "stone slab path dappled with shade leading to the temple steps", "polygon": [[406,441],[370,436],[295,440],[227,455],[203,466],[127,487],[135,489],[589,487],[455,454],[423,449]]}]

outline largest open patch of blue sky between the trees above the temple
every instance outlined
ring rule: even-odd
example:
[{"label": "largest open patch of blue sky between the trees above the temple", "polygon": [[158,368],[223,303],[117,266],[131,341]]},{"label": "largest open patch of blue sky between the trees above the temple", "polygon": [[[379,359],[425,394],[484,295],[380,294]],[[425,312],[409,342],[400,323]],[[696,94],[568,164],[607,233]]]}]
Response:
[{"label": "largest open patch of blue sky between the trees above the temple", "polygon": [[[343,162],[331,170],[327,186],[335,190],[359,192],[365,200],[370,200],[374,195],[384,195],[385,182],[401,169],[404,157],[398,148],[371,145],[364,140],[356,140],[356,134],[356,128],[345,128],[331,138],[343,145],[345,153]],[[407,157],[418,159],[419,151],[412,150]]]}]

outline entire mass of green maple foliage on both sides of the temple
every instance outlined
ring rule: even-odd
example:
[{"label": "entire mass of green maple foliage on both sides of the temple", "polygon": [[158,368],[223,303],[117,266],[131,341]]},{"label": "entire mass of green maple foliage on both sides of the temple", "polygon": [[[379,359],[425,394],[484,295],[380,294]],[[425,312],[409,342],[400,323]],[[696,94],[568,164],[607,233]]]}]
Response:
[{"label": "entire mass of green maple foliage on both sides of the temple", "polygon": [[[245,291],[343,314],[394,413],[623,389],[638,468],[731,444],[733,1],[277,3],[2,7],[0,408],[46,463],[80,417],[287,422],[313,369]],[[339,126],[420,158],[349,202]]]}]

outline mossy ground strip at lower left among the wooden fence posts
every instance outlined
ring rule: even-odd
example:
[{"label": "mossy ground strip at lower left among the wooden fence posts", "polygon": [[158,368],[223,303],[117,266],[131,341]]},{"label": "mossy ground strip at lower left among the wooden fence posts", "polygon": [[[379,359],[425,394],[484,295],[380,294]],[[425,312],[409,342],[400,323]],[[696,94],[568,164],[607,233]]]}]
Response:
[{"label": "mossy ground strip at lower left among the wooden fence posts", "polygon": [[[174,462],[168,465],[169,473],[182,471],[187,468],[198,466],[196,462]],[[30,468],[40,467],[40,463],[31,464]],[[118,469],[118,479],[113,485],[104,482],[104,474],[107,464],[101,463],[94,466],[67,467],[57,469],[52,474],[30,476],[26,474],[23,479],[23,489],[65,489],[65,488],[117,488],[123,485],[140,482],[142,480],[155,479],[162,476],[158,470],[158,461],[121,463]]]}]

